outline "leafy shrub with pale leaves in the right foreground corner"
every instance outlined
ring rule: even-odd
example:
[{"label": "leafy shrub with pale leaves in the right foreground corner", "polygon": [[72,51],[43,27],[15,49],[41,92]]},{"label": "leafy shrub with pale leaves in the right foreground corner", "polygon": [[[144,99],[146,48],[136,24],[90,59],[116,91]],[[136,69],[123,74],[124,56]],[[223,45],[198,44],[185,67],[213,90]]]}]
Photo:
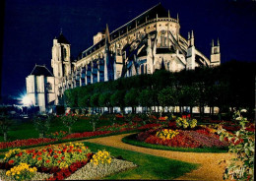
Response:
[{"label": "leafy shrub with pale leaves in the right foreground corner", "polygon": [[237,180],[254,180],[254,136],[249,136],[246,131],[247,119],[242,117],[241,111],[235,112],[235,119],[239,121],[241,126],[240,130],[235,134],[228,134],[221,126],[218,130],[220,139],[227,138],[230,143],[229,152],[234,153],[235,157],[230,160],[227,167],[224,169],[224,179],[237,179]]}]

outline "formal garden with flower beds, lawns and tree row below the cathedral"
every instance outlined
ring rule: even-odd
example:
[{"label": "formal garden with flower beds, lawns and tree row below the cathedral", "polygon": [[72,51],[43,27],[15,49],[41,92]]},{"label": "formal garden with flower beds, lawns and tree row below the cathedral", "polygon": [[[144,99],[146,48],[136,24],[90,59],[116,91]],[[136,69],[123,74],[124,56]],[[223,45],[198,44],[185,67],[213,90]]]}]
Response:
[{"label": "formal garden with flower beds, lawns and tree row below the cathedral", "polygon": [[[241,69],[246,71],[237,74]],[[253,180],[254,83],[255,66],[233,61],[213,69],[157,71],[67,90],[60,99],[71,108],[65,113],[34,115],[28,120],[3,114],[0,179],[172,180],[201,174],[197,168],[204,161],[164,155],[196,153],[200,159],[204,159],[200,155],[231,154],[232,158],[226,156],[215,164],[222,168],[218,174],[223,179]],[[128,114],[127,107],[131,108]],[[193,107],[199,111],[193,112]],[[91,143],[119,136],[119,144],[125,146],[121,149]],[[150,152],[127,150],[134,146]],[[156,151],[164,153],[151,153]]]}]

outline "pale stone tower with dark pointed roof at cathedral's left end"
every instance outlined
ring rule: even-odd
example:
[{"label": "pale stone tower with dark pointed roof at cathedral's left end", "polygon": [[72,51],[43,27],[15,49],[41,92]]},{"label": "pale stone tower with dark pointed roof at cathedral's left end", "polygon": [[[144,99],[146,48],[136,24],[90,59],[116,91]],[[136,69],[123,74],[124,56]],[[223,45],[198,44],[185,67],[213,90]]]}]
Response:
[{"label": "pale stone tower with dark pointed roof at cathedral's left end", "polygon": [[56,104],[58,103],[59,84],[62,78],[71,74],[70,43],[60,32],[60,35],[53,39],[51,67],[55,78]]}]

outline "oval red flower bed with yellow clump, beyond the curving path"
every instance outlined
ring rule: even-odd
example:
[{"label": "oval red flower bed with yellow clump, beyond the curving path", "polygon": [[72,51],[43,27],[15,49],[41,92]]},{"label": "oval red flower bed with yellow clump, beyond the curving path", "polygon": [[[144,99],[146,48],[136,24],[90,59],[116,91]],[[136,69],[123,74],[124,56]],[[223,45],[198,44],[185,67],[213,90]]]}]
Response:
[{"label": "oval red flower bed with yellow clump, beyond the curving path", "polygon": [[224,148],[227,142],[221,142],[219,136],[208,129],[171,130],[152,129],[139,133],[137,140],[153,145],[162,145],[174,148]]}]

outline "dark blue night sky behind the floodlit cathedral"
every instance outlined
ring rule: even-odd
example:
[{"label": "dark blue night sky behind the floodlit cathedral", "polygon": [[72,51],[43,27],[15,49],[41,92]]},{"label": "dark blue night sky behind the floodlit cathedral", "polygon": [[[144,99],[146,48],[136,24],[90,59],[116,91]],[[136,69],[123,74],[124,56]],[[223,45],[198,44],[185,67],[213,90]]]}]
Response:
[{"label": "dark blue night sky behind the floodlit cathedral", "polygon": [[26,91],[36,64],[51,70],[51,47],[60,29],[71,53],[93,45],[93,35],[108,24],[115,30],[161,3],[179,14],[181,35],[194,30],[196,47],[210,56],[211,40],[220,38],[222,62],[256,61],[256,2],[234,0],[6,0],[2,49],[2,95]]}]

